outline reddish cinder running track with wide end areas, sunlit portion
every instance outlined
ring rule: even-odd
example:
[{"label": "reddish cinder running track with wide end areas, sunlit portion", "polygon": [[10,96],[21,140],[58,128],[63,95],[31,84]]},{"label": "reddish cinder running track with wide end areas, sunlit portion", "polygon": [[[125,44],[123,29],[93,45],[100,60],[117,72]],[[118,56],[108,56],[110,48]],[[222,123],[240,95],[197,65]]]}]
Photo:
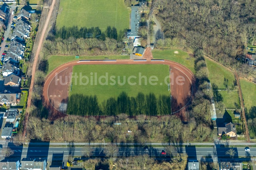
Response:
[{"label": "reddish cinder running track with wide end areas, sunlit portion", "polygon": [[[68,77],[72,71],[72,67],[75,65],[95,65],[95,64],[165,64],[172,68],[173,80],[171,81],[171,94],[172,94],[172,113],[182,113],[186,109],[186,106],[190,103],[192,93],[194,93],[194,75],[185,66],[169,61],[169,60],[76,60],[59,66],[54,69],[45,80],[45,85],[43,89],[43,104],[48,108],[49,115],[48,118],[54,120],[59,117],[65,116],[64,113],[59,111],[59,104],[67,101],[69,84],[71,78]],[[63,81],[63,76],[67,76],[67,81]],[[176,83],[177,77],[184,77],[184,84]],[[61,83],[65,82],[65,83]],[[195,88],[194,88],[195,89]],[[184,115],[179,115],[184,118]]]}]

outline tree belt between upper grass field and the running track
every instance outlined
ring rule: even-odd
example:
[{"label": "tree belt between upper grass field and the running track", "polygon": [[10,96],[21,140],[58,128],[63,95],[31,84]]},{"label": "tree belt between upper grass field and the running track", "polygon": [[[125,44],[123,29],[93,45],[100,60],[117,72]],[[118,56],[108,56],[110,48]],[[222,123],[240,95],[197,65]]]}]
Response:
[{"label": "tree belt between upper grass field and the running track", "polygon": [[62,27],[49,33],[44,47],[52,55],[107,55],[121,54],[126,31],[107,27],[105,32],[96,28]]}]

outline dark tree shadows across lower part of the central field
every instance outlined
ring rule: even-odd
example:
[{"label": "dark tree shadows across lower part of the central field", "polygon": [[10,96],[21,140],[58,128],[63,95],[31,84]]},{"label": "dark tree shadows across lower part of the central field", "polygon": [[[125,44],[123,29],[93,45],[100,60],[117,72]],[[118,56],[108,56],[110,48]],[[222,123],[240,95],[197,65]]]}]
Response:
[{"label": "dark tree shadows across lower part of the central field", "polygon": [[146,114],[147,116],[171,114],[170,96],[154,93],[138,93],[130,97],[122,92],[117,98],[109,98],[102,103],[98,102],[96,95],[72,94],[68,99],[67,114],[70,115],[108,115],[115,116],[121,113],[130,116]]}]

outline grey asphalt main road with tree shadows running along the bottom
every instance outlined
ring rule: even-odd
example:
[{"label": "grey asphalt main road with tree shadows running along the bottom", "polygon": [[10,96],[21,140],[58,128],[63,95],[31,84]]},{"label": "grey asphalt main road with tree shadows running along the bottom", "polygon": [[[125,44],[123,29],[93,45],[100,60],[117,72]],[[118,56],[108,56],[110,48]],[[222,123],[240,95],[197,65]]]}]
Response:
[{"label": "grey asphalt main road with tree shadows running along the bottom", "polygon": [[[5,148],[7,146],[4,146]],[[63,153],[64,156],[69,154],[74,156],[82,156],[86,153],[85,148],[57,148],[57,147],[15,147],[9,146],[14,150],[14,155],[22,156],[22,157],[46,157],[52,156],[54,153]],[[105,156],[108,155],[108,147],[92,147],[93,156]],[[186,153],[190,157],[198,157],[198,156],[226,156],[226,151],[230,148],[220,148],[217,149],[213,147],[205,147],[205,148],[196,148],[196,147],[185,147],[174,149],[173,153],[176,151],[181,153]],[[236,156],[255,156],[256,148],[250,148],[250,152],[246,152],[244,148],[232,148],[237,153]],[[143,148],[133,148],[133,147],[118,147],[116,148],[115,156],[132,156],[132,155],[142,155],[148,154],[150,156],[161,156],[162,150],[165,150],[163,147],[157,148],[148,148],[148,151],[145,151]],[[176,150],[176,151],[175,151]],[[1,157],[3,153],[0,153]],[[166,154],[169,153],[166,151]],[[162,155],[163,156],[163,155]]]}]

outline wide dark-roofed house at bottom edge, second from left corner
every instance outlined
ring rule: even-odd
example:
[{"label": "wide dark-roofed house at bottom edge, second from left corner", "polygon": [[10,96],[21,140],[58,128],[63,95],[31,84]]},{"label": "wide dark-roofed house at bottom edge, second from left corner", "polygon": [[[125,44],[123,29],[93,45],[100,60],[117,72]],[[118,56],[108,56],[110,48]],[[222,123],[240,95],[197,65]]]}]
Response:
[{"label": "wide dark-roofed house at bottom edge, second from left corner", "polygon": [[21,161],[21,170],[29,169],[29,170],[46,170],[47,163],[44,159],[33,160],[24,158]]}]

